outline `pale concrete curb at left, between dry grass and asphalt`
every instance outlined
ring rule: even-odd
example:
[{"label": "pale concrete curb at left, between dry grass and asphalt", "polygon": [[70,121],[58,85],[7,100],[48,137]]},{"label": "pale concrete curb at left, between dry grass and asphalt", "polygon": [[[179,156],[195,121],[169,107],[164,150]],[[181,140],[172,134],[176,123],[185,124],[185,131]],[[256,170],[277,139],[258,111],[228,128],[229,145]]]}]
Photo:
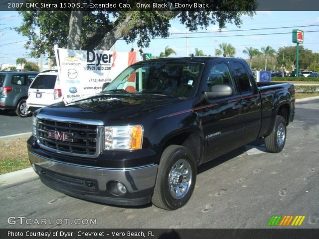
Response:
[{"label": "pale concrete curb at left, between dry grass and asphalt", "polygon": [[0,175],[0,187],[10,187],[25,181],[31,181],[37,177],[38,175],[34,172],[32,167],[5,173]]}]

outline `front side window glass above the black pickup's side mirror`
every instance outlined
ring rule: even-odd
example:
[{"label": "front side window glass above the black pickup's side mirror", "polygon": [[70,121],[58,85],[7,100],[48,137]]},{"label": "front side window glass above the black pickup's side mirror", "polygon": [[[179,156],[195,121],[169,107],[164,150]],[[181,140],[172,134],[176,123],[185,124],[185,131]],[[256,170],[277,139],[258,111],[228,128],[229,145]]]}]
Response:
[{"label": "front side window glass above the black pickup's side mirror", "polygon": [[235,89],[230,71],[225,63],[216,64],[210,69],[207,79],[208,92],[210,91],[212,86],[217,84],[227,84]]}]

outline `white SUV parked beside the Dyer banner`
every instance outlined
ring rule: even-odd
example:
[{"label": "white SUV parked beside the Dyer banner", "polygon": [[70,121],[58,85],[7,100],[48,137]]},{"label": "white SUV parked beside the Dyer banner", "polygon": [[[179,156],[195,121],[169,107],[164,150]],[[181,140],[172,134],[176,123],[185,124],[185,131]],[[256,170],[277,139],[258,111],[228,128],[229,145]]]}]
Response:
[{"label": "white SUV parked beside the Dyer banner", "polygon": [[62,101],[58,72],[43,71],[36,76],[28,90],[26,106],[30,112]]}]

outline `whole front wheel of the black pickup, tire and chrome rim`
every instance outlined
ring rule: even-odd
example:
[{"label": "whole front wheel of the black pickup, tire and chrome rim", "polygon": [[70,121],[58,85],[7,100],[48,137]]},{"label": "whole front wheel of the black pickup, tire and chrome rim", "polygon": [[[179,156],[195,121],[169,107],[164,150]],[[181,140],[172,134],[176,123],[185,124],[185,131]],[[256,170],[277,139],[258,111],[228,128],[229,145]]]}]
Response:
[{"label": "whole front wheel of the black pickup, tire and chrome rim", "polygon": [[152,203],[165,210],[183,207],[196,182],[196,162],[192,153],[180,145],[170,145],[162,153]]}]

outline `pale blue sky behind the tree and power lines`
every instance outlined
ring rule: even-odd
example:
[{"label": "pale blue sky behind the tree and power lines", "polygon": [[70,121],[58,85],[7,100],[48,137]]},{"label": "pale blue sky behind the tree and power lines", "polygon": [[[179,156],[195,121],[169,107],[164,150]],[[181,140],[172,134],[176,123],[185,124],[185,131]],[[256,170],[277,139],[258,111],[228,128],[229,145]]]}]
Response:
[{"label": "pale blue sky behind the tree and power lines", "polygon": [[[188,53],[194,53],[195,48],[203,50],[206,55],[214,56],[215,47],[222,42],[230,43],[236,48],[235,57],[247,59],[248,56],[243,53],[245,47],[254,47],[260,49],[270,45],[275,50],[284,46],[295,46],[292,42],[292,30],[300,29],[305,32],[305,48],[313,52],[319,52],[319,11],[257,11],[253,18],[243,15],[241,17],[243,24],[238,28],[234,24],[227,24],[222,32],[218,31],[217,25],[209,25],[207,29],[198,29],[198,32],[188,34]],[[15,63],[16,58],[24,57],[29,61],[38,62],[38,59],[28,58],[29,51],[23,46],[26,37],[17,34],[12,28],[21,24],[22,18],[16,11],[0,11],[0,65],[4,63]],[[307,26],[306,25],[317,25]],[[276,28],[290,27],[284,29],[267,30],[249,30],[233,31],[227,30],[246,30],[256,28]],[[187,54],[186,28],[180,24],[178,19],[171,20],[170,37],[184,37],[182,39],[153,39],[148,48],[144,48],[145,53],[152,53],[153,56],[159,56],[164,51],[165,46],[175,50],[176,57],[183,57]],[[288,32],[288,34],[270,34]],[[183,34],[175,34],[183,33]],[[250,36],[247,36],[247,35]],[[269,35],[251,35],[251,34],[269,34]],[[234,36],[246,35],[246,36]],[[197,38],[190,38],[197,37]],[[17,43],[15,43],[17,42]],[[116,51],[130,51],[131,48],[138,50],[136,43],[127,45],[125,41],[118,40],[115,44]]]}]

